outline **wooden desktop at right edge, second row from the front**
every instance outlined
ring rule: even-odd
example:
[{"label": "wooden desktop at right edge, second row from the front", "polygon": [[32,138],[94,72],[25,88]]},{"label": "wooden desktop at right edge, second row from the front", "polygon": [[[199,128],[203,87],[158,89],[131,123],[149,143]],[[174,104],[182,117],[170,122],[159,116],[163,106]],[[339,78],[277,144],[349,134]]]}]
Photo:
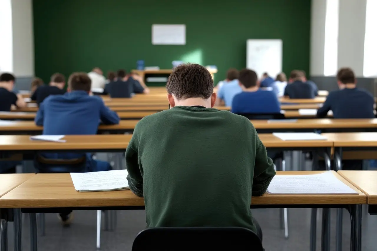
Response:
[{"label": "wooden desktop at right edge, second row from the front", "polygon": [[377,133],[322,133],[329,141],[334,142],[334,147],[377,147]]}]

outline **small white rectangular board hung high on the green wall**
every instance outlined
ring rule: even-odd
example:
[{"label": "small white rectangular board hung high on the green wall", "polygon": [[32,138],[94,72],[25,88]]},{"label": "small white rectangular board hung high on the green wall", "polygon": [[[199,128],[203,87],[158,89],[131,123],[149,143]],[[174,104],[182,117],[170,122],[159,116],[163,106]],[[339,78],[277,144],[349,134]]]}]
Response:
[{"label": "small white rectangular board hung high on the green wall", "polygon": [[152,44],[185,45],[185,24],[152,24]]}]

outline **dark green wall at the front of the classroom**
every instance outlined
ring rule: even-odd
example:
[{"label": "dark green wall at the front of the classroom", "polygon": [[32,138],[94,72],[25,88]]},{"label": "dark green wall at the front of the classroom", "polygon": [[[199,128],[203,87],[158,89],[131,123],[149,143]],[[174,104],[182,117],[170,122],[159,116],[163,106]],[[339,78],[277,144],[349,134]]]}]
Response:
[{"label": "dark green wall at the front of the classroom", "polygon": [[[246,65],[248,38],[283,40],[283,70],[309,73],[310,0],[34,0],[35,75],[94,66],[215,64],[215,82]],[[185,46],[152,45],[153,23],[186,24]]]}]

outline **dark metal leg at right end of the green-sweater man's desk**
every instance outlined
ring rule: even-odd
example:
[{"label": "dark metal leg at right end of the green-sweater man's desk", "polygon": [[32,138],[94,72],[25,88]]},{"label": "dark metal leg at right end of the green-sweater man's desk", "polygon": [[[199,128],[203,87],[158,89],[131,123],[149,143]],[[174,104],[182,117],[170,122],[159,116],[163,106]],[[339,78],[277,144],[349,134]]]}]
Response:
[{"label": "dark metal leg at right end of the green-sweater man's desk", "polygon": [[351,217],[351,251],[361,251],[361,205],[350,205]]}]

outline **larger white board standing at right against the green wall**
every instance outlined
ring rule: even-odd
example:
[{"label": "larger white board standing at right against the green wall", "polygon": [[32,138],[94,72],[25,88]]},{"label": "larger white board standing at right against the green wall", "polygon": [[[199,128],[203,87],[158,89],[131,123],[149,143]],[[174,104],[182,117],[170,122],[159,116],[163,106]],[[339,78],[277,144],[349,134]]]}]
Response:
[{"label": "larger white board standing at right against the green wall", "polygon": [[248,39],[246,68],[261,78],[264,72],[275,78],[283,70],[283,41],[281,39]]}]

